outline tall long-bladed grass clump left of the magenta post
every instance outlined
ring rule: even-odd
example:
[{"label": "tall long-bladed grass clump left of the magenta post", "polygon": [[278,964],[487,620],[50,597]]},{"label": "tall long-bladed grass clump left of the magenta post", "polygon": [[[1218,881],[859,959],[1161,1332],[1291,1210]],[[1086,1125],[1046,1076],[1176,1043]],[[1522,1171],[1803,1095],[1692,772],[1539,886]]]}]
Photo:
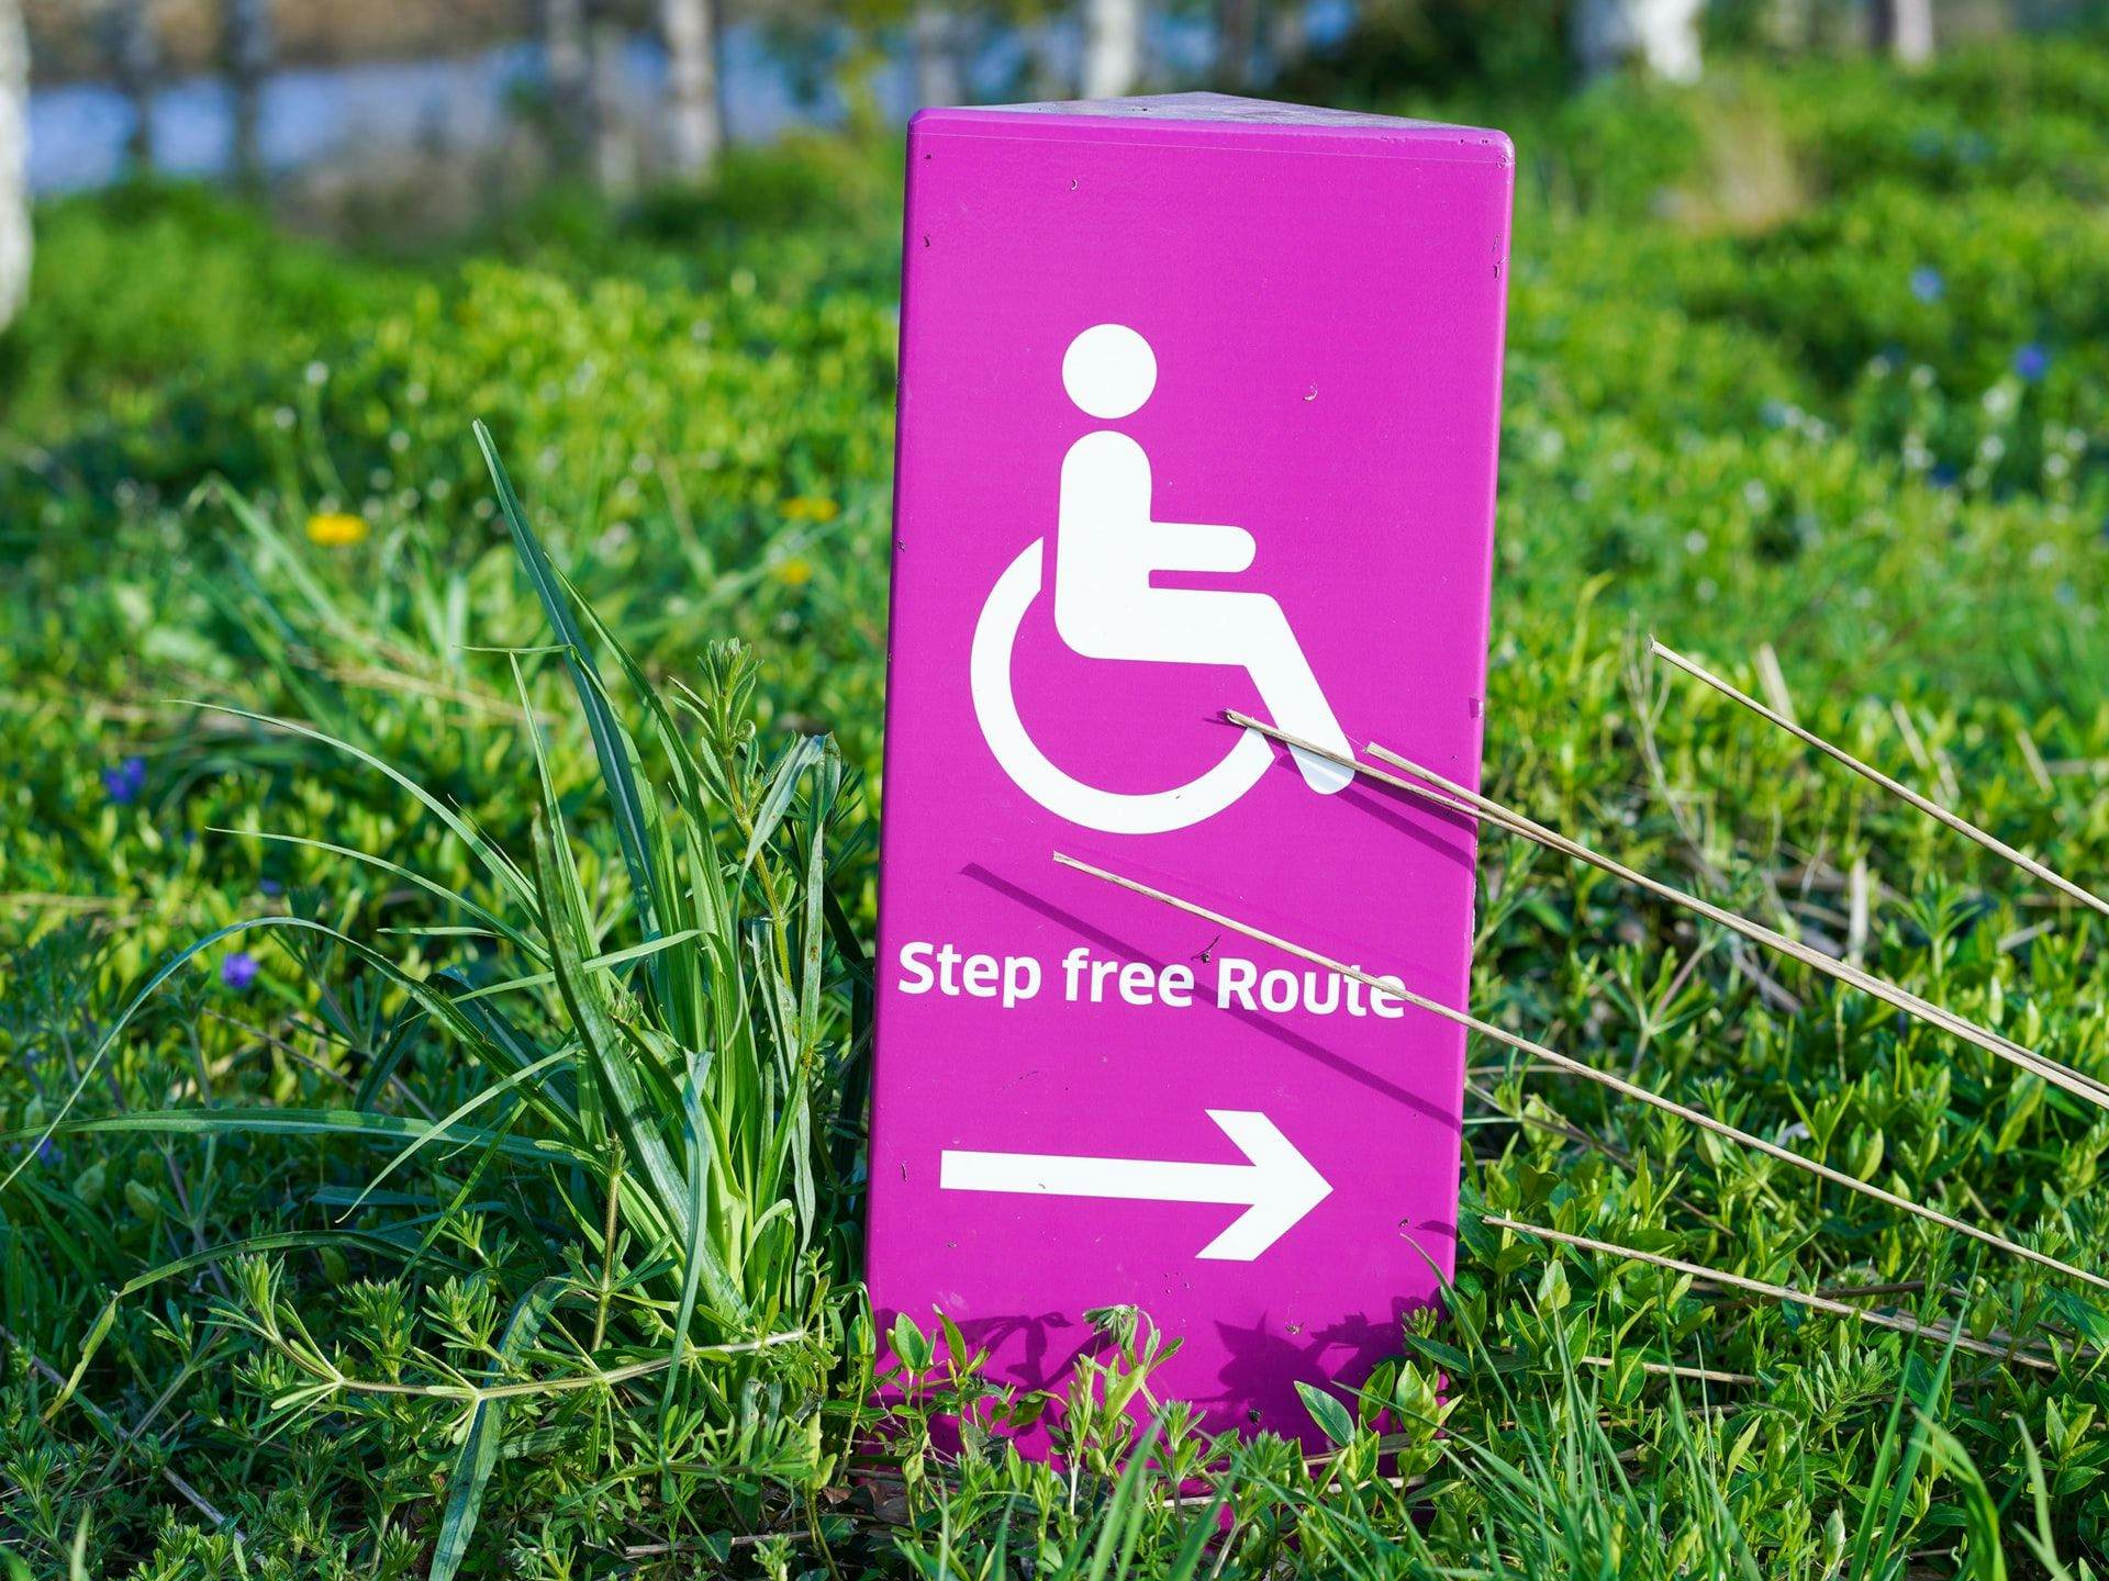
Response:
[{"label": "tall long-bladed grass clump left of the magenta post", "polygon": [[[519,683],[515,786],[531,805],[525,850],[504,850],[466,812],[367,746],[291,719],[221,708],[268,734],[342,753],[390,780],[458,841],[477,883],[451,887],[388,852],[321,847],[418,892],[422,946],[460,963],[411,970],[331,921],[266,915],[215,930],[160,965],[108,1027],[55,1117],[19,1134],[13,1174],[55,1138],[95,1132],[310,1136],[369,1149],[375,1166],[337,1199],[333,1229],[253,1237],[131,1280],[91,1330],[65,1406],[118,1303],[205,1265],[232,1265],[213,1322],[253,1343],[272,1412],[329,1410],[392,1425],[426,1452],[451,1444],[430,1575],[470,1551],[506,1446],[567,1436],[622,1440],[666,1478],[744,1488],[759,1509],[829,1482],[854,1429],[860,1385],[837,1379],[871,1347],[850,1334],[856,1294],[854,1140],[871,1043],[869,974],[833,900],[856,858],[858,795],[835,744],[766,750],[755,670],[713,645],[692,681],[647,675],[548,559],[479,426],[521,573],[548,643],[508,649]],[[599,805],[559,793],[525,666],[563,666],[599,769]],[[618,708],[628,704],[628,719]],[[610,864],[580,824],[614,831]],[[224,940],[316,940],[382,984],[382,1035],[359,1050],[340,1109],[181,1107],[76,1115],[127,1027],[183,965]],[[314,953],[299,953],[316,961]],[[327,993],[329,984],[321,984]],[[405,1102],[426,1043],[472,1071],[447,1113]],[[384,1187],[445,1159],[451,1199]],[[512,1197],[504,1256],[456,1246],[464,1223]],[[489,1231],[472,1225],[466,1240]],[[321,1250],[445,1280],[447,1347],[401,1345],[361,1372],[318,1341],[278,1273]],[[466,1254],[464,1254],[466,1252]],[[367,1305],[380,1296],[363,1296]],[[382,1301],[388,1305],[388,1301]],[[371,1313],[369,1313],[371,1315]],[[396,1311],[384,1322],[403,1330]],[[409,1412],[409,1414],[405,1414]],[[420,1414],[422,1412],[422,1414]],[[778,1488],[766,1495],[766,1488]],[[795,1501],[793,1501],[795,1503]]]}]

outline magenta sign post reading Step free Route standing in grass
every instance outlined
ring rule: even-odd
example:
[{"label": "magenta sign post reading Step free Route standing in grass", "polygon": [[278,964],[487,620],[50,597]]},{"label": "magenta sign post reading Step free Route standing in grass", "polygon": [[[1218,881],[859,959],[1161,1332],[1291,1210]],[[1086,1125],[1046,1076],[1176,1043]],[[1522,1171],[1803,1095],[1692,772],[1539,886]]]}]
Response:
[{"label": "magenta sign post reading Step free Route standing in grass", "polygon": [[1059,1385],[1312,1436],[1451,1271],[1508,139],[1213,95],[909,133],[869,1271]]}]

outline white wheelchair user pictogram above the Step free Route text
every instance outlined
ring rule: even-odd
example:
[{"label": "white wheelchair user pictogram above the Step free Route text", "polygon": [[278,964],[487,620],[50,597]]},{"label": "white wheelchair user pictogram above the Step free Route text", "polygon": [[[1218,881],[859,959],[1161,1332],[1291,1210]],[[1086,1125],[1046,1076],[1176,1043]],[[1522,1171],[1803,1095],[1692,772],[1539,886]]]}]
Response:
[{"label": "white wheelchair user pictogram above the Step free Route text", "polygon": [[[1126,325],[1095,325],[1069,341],[1061,375],[1084,413],[1118,422],[1149,401],[1158,358]],[[1255,548],[1242,527],[1156,521],[1149,455],[1133,436],[1099,428],[1076,441],[1061,464],[1054,630],[1082,658],[1242,668],[1280,729],[1346,757],[1348,738],[1274,599],[1149,584],[1156,571],[1234,575],[1253,565]],[[1057,767],[1025,729],[1010,685],[1010,653],[1046,571],[1046,540],[1036,538],[995,580],[974,622],[968,662],[974,717],[1004,774],[1048,812],[1107,835],[1187,828],[1259,784],[1274,748],[1253,729],[1240,731],[1206,774],[1170,790],[1103,790]],[[1331,759],[1289,750],[1303,782],[1320,795],[1354,780],[1352,769]]]}]

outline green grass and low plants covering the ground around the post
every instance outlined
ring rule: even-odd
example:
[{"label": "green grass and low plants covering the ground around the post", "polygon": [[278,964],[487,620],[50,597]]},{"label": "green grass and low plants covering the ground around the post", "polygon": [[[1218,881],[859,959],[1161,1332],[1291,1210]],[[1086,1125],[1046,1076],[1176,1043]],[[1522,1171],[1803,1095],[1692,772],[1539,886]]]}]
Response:
[{"label": "green grass and low plants covering the ground around the post", "polygon": [[[1489,795],[2109,1079],[2101,915],[1645,641],[2103,887],[2105,105],[2065,38],[1478,112],[1525,154]],[[1126,1309],[1052,1398],[932,1320],[869,1404],[894,173],[808,145],[434,257],[46,209],[0,350],[0,1545],[2098,1573],[2092,1286],[1506,1039],[2088,1271],[2109,1117],[1499,835],[1457,1286],[1312,1400],[1335,1457],[1200,1438]]]}]

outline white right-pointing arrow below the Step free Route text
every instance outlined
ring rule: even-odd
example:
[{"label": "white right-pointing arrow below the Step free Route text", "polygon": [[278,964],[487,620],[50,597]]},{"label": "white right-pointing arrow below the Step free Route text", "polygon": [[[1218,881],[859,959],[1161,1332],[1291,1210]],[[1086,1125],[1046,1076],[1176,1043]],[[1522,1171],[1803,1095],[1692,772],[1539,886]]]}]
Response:
[{"label": "white right-pointing arrow below the Step free Route text", "polygon": [[1208,1119],[1244,1153],[1244,1164],[1164,1164],[1139,1157],[1076,1157],[1069,1153],[966,1153],[945,1149],[939,1187],[945,1191],[1023,1191],[1050,1197],[1120,1197],[1124,1202],[1234,1202],[1246,1208],[1198,1256],[1251,1263],[1333,1195],[1272,1119],[1251,1109],[1211,1109]]}]

